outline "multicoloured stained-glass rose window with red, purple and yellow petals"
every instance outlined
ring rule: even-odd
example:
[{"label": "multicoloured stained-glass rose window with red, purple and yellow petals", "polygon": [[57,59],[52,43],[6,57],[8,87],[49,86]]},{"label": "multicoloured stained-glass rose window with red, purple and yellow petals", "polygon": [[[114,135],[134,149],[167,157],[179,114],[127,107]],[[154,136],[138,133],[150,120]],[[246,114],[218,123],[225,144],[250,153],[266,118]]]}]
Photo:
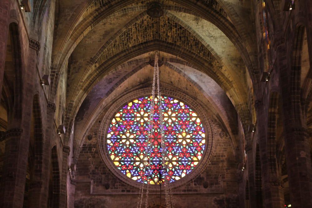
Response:
[{"label": "multicoloured stained-glass rose window with red, purple and yellow petals", "polygon": [[[157,99],[157,98],[156,98]],[[106,147],[115,167],[127,177],[148,184],[177,181],[189,174],[201,160],[206,147],[206,133],[201,119],[188,105],[162,96],[164,134],[168,170],[160,174],[159,106],[154,108],[151,175],[144,175],[144,152],[149,135],[151,97],[129,102],[111,120],[106,134]],[[155,102],[157,103],[157,102]],[[146,162],[146,161],[145,161]]]}]

